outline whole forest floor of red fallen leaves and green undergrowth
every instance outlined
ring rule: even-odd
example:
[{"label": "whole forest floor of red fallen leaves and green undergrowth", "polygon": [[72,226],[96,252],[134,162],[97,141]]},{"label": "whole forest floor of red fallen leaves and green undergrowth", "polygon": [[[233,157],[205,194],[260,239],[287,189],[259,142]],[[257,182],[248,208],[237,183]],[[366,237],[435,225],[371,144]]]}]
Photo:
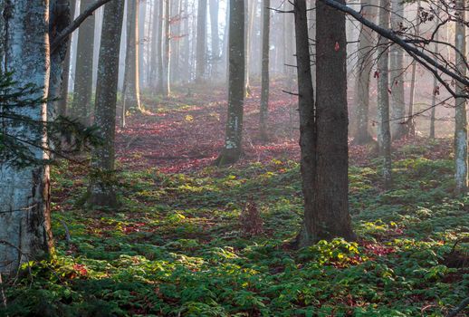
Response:
[{"label": "whole forest floor of red fallen leaves and green undergrowth", "polygon": [[273,89],[263,143],[255,91],[244,158],[215,168],[224,100],[217,90],[145,100],[148,113],[118,131],[118,210],[83,210],[87,168],[53,168],[55,256],[5,285],[0,315],[445,316],[467,296],[469,197],[452,194],[448,139],[395,144],[387,192],[372,147],[350,147],[358,241],[292,250],[294,100]]}]

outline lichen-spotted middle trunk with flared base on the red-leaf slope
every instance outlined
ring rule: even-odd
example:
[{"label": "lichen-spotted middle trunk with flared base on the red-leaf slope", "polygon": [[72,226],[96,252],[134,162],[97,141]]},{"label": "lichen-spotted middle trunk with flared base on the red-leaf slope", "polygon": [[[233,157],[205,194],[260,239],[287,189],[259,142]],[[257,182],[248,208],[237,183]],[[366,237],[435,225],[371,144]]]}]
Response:
[{"label": "lichen-spotted middle trunk with flared base on the red-leaf slope", "polygon": [[217,165],[235,163],[242,154],[244,115],[244,1],[230,0],[228,118],[225,146]]}]

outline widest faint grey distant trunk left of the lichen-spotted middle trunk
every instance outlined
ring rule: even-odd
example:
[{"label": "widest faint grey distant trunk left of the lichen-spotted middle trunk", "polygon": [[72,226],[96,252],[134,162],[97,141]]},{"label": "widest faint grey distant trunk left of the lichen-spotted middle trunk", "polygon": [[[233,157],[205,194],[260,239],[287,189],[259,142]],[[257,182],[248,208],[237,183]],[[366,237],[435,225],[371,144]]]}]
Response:
[{"label": "widest faint grey distant trunk left of the lichen-spotted middle trunk", "polygon": [[197,2],[196,82],[206,76],[206,0]]}]

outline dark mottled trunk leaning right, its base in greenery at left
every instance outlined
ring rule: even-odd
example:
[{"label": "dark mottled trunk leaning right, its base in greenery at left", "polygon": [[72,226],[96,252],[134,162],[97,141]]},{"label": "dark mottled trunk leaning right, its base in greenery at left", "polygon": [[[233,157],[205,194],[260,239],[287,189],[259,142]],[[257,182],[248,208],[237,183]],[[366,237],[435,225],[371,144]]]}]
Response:
[{"label": "dark mottled trunk leaning right, its base in greenery at left", "polygon": [[100,128],[104,144],[92,151],[91,168],[95,172],[92,173],[89,188],[91,206],[117,205],[112,176],[115,169],[114,137],[124,5],[124,0],[115,0],[104,6],[95,104],[95,123]]}]

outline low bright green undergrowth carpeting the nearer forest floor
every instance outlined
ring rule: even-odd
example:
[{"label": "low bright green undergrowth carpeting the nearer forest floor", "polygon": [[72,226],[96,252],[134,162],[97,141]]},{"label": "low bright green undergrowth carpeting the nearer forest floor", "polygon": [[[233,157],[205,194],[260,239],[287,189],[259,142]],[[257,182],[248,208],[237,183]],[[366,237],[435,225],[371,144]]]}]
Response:
[{"label": "low bright green undergrowth carpeting the nearer forest floor", "polygon": [[[350,168],[359,241],[299,251],[288,244],[302,216],[296,163],[121,173],[117,214],[54,207],[56,256],[5,285],[0,315],[443,316],[469,288],[451,260],[467,260],[466,243],[453,247],[469,232],[469,197],[451,197],[449,160],[401,159],[394,173],[384,193],[375,165]],[[81,178],[54,179],[55,195],[85,191]],[[238,219],[248,199],[264,221],[251,238]]]}]

